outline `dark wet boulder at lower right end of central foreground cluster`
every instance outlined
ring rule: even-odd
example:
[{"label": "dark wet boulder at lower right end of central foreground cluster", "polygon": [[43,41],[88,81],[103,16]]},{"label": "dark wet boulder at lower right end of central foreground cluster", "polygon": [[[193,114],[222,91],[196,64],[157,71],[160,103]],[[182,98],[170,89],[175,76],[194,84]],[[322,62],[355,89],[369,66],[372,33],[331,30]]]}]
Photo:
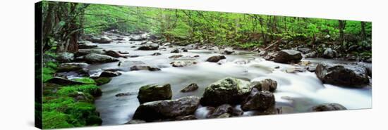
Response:
[{"label": "dark wet boulder at lower right end of central foreground cluster", "polygon": [[251,93],[250,96],[241,103],[241,109],[244,111],[267,110],[274,105],[275,96],[270,91],[253,91],[253,93]]}]

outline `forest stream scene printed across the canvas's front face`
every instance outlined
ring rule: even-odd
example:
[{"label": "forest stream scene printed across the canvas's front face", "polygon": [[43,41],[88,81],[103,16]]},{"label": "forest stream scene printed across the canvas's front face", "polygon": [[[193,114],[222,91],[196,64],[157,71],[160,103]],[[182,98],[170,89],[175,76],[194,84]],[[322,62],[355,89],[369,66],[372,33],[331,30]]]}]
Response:
[{"label": "forest stream scene printed across the canvas's front face", "polygon": [[[38,103],[42,112],[37,113],[42,115],[44,129],[370,105],[372,22],[56,1],[42,1],[37,8],[42,11],[41,23],[37,24],[42,24],[43,53],[42,74],[37,76],[43,82],[42,104]],[[277,75],[277,70],[281,74]],[[310,74],[319,85],[291,82],[308,80],[297,73]],[[213,76],[203,79],[209,74]],[[306,88],[332,84],[350,89],[349,94],[361,103],[318,99],[305,93],[301,101],[299,96],[284,93],[291,91],[282,89],[286,82]],[[249,84],[248,89],[244,84]],[[180,90],[181,86],[187,87]],[[137,89],[123,89],[133,87]],[[217,92],[228,87],[238,93]],[[292,89],[290,93],[302,92]],[[320,97],[322,93],[314,94]],[[328,94],[324,97],[343,98]],[[275,100],[277,96],[308,105],[290,107]],[[182,105],[184,112],[158,106],[168,111],[160,114],[147,105],[158,101]],[[112,105],[120,107],[111,112]],[[208,115],[199,116],[202,111]],[[113,115],[116,117],[109,117]]]}]

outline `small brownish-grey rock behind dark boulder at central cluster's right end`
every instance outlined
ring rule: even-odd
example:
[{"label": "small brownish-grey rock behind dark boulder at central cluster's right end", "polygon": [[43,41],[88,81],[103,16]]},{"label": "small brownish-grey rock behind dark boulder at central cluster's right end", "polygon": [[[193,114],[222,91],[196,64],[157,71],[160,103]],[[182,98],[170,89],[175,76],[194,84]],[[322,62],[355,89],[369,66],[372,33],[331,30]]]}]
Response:
[{"label": "small brownish-grey rock behind dark boulder at central cluster's right end", "polygon": [[272,79],[262,79],[260,82],[251,82],[250,88],[256,88],[259,91],[274,92],[277,89],[277,82]]}]

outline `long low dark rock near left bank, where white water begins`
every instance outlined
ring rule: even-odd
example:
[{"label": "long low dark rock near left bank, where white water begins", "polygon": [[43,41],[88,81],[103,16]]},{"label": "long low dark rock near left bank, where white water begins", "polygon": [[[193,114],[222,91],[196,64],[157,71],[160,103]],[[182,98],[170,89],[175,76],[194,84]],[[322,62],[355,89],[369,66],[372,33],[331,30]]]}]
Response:
[{"label": "long low dark rock near left bank, where white water begins", "polygon": [[111,63],[111,62],[119,61],[119,59],[117,58],[101,55],[97,53],[87,54],[83,56],[81,59],[85,60],[86,63]]}]

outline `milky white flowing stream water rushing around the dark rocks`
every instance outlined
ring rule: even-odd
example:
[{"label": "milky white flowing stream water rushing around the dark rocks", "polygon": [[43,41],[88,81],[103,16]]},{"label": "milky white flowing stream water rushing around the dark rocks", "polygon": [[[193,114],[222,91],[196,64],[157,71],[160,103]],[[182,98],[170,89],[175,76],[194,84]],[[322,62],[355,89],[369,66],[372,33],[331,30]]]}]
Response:
[{"label": "milky white flowing stream water rushing around the dark rocks", "polygon": [[[136,58],[120,58],[122,63],[126,61],[143,62],[143,64],[159,67],[161,71],[125,71],[121,76],[114,77],[109,84],[101,86],[102,96],[97,98],[95,105],[100,112],[103,125],[124,124],[131,120],[133,114],[140,105],[137,99],[138,89],[146,84],[171,84],[173,99],[183,96],[202,96],[205,87],[224,77],[236,77],[250,81],[271,78],[277,81],[277,91],[274,92],[276,107],[281,108],[282,113],[306,112],[313,105],[321,103],[340,103],[348,109],[363,109],[372,107],[372,91],[370,87],[364,89],[350,89],[346,87],[322,84],[313,72],[287,73],[284,70],[293,65],[274,63],[257,56],[257,53],[237,51],[233,55],[225,55],[226,60],[222,64],[205,62],[210,56],[219,55],[208,50],[188,50],[188,52],[170,53],[172,48],[166,47],[166,51],[137,51],[140,41],[123,41],[112,44],[99,44],[99,48],[114,51],[127,51],[129,55],[138,55]],[[136,46],[131,48],[131,46]],[[163,47],[163,46],[161,46]],[[152,53],[162,53],[160,56],[151,56]],[[195,56],[198,58],[183,58],[183,60],[196,60],[198,64],[188,67],[172,67],[170,63],[174,59],[168,58],[176,54],[183,56]],[[180,59],[182,60],[182,59]],[[304,59],[313,63],[342,61],[323,59]],[[139,62],[138,62],[139,63]],[[90,70],[103,70],[117,67],[116,63],[104,63],[90,65]],[[129,66],[130,67],[130,66]],[[279,67],[278,69],[274,69]],[[181,93],[183,87],[191,83],[198,84],[196,91]],[[116,97],[117,93],[131,93],[130,96]],[[239,105],[236,105],[239,108]],[[195,116],[198,119],[205,117],[207,109],[200,106]],[[252,112],[244,112],[243,115],[251,115]]]}]

